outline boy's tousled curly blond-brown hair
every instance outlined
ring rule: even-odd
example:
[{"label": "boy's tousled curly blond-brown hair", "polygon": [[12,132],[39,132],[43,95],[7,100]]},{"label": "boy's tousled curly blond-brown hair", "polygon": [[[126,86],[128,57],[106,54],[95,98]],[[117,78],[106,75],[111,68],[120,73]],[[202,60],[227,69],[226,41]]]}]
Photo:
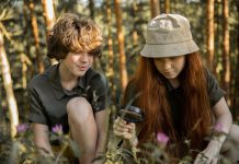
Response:
[{"label": "boy's tousled curly blond-brown hair", "polygon": [[47,35],[47,56],[60,60],[70,51],[83,51],[100,57],[102,43],[102,32],[94,21],[65,13]]}]

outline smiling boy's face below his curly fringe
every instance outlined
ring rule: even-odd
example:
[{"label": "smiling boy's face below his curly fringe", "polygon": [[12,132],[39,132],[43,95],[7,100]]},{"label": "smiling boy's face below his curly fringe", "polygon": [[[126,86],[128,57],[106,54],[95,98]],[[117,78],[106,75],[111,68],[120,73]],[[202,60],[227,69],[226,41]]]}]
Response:
[{"label": "smiling boy's face below his curly fringe", "polygon": [[75,77],[83,77],[93,63],[93,56],[88,52],[68,52],[61,63]]}]

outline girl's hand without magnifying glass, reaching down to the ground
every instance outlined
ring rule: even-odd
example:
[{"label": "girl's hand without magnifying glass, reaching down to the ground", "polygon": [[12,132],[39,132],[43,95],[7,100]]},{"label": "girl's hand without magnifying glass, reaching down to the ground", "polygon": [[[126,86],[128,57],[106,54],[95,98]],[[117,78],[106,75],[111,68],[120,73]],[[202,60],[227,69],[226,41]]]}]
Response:
[{"label": "girl's hand without magnifying glass, reaching down to the ground", "polygon": [[193,164],[217,164],[221,143],[217,140],[210,140],[207,148],[197,154]]}]

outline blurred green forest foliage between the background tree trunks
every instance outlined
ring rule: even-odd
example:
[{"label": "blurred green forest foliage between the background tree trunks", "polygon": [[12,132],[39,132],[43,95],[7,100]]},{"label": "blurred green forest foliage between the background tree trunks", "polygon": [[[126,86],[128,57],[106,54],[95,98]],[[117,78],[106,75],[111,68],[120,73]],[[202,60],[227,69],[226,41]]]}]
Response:
[{"label": "blurred green forest foliage between the background tree trunks", "polygon": [[[34,46],[33,31],[31,26],[30,10],[25,7],[27,1],[24,0],[3,0],[1,1],[0,22],[3,23],[9,36],[5,36],[5,50],[11,65],[12,79],[15,92],[20,92],[21,96],[26,96],[22,91],[22,68],[21,54],[24,54],[33,65],[27,65],[27,81],[38,72],[36,61],[36,48]],[[236,81],[238,70],[238,8],[236,1],[229,1],[229,30],[230,30],[230,61],[231,61],[231,92],[235,92],[238,81]],[[120,65],[118,46],[116,35],[116,21],[114,14],[114,1],[110,1],[112,10],[112,39],[114,52],[114,87],[120,93]],[[34,1],[35,15],[38,24],[39,33],[39,54],[42,55],[45,68],[49,67],[49,60],[46,57],[46,31],[43,8],[41,1]],[[122,1],[121,8],[123,11],[123,33],[125,36],[125,55],[128,75],[130,77],[136,69],[139,51],[145,44],[145,34],[147,22],[150,20],[150,2],[148,0],[129,0]],[[109,65],[109,47],[107,47],[107,21],[106,21],[106,0],[94,1],[93,9],[90,8],[89,1],[86,0],[64,0],[54,1],[55,15],[58,17],[65,12],[79,13],[82,16],[90,16],[93,12],[95,22],[102,27],[105,36],[105,46],[101,58],[101,70],[106,72]],[[160,1],[160,10],[164,12],[164,1]],[[221,55],[223,55],[223,1],[215,1],[215,61],[217,71],[221,72]],[[187,0],[171,0],[171,13],[183,14],[191,21],[192,33],[194,39],[201,48],[203,57],[206,57],[206,1],[187,1]],[[5,15],[4,17],[2,15]],[[134,32],[137,33],[137,42],[134,44]],[[221,80],[221,74],[217,74],[218,80]],[[20,91],[18,91],[20,89]],[[116,94],[117,94],[116,93]],[[237,96],[237,95],[236,95]],[[232,99],[234,101],[234,99]],[[238,99],[236,99],[238,106]],[[24,101],[18,99],[19,108],[24,105]],[[236,108],[237,106],[234,106]],[[25,108],[23,109],[25,110]],[[238,113],[238,112],[237,112]]]}]

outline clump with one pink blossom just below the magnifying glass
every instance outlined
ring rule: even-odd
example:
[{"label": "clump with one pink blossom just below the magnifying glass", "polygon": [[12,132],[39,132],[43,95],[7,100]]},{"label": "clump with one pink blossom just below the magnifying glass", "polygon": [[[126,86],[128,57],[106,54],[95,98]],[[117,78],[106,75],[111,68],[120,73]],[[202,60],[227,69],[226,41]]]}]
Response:
[{"label": "clump with one pink blossom just below the magnifying glass", "polygon": [[99,156],[99,159],[103,159],[105,161],[104,164],[169,164],[169,159],[164,151],[169,138],[164,133],[158,133],[157,139],[157,144],[146,143],[143,145],[144,150],[135,147],[127,150],[124,147],[118,147],[118,140],[112,137],[109,141],[106,153]]}]

